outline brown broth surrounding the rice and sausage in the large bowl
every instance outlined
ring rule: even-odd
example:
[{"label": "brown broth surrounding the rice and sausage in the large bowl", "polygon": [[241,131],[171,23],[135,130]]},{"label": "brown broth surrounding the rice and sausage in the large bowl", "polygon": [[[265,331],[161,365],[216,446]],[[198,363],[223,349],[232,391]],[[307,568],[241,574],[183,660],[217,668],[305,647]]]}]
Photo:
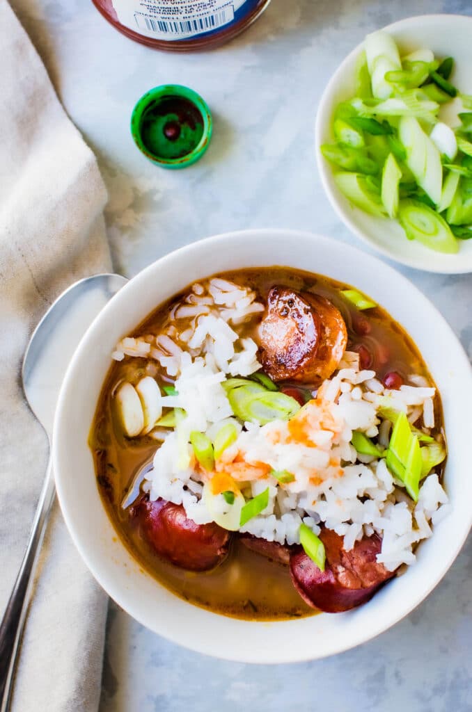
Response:
[{"label": "brown broth surrounding the rice and sausage in the large bowl", "polygon": [[[364,346],[372,355],[372,370],[382,379],[387,372],[396,371],[406,378],[415,373],[426,376],[432,383],[426,364],[412,342],[384,309],[377,306],[368,312],[359,312],[340,293],[350,288],[332,279],[291,268],[271,267],[226,272],[221,275],[240,286],[256,290],[265,300],[272,286],[289,286],[294,290],[311,290],[323,295],[341,311],[347,325],[350,350]],[[135,336],[157,334],[173,304],[188,289],[161,305],[135,330]],[[185,320],[183,328],[185,328]],[[252,326],[237,327],[242,333],[254,331]],[[314,609],[299,597],[294,589],[288,567],[272,562],[247,550],[237,537],[233,537],[230,555],[215,570],[195,573],[182,570],[159,557],[140,536],[135,520],[122,503],[133,489],[136,475],[150,463],[158,443],[150,437],[128,440],[114,422],[111,399],[114,389],[123,380],[136,383],[148,375],[145,360],[126,357],[114,362],[98,400],[96,416],[91,430],[91,449],[96,464],[98,490],[106,511],[126,548],[150,575],[161,584],[189,602],[215,612],[243,619],[275,620],[303,617],[314,614]],[[156,362],[153,374],[161,384],[170,382],[165,371]],[[435,398],[436,423],[442,423],[441,402]],[[418,423],[417,423],[418,425]],[[441,427],[436,428],[436,432]]]}]

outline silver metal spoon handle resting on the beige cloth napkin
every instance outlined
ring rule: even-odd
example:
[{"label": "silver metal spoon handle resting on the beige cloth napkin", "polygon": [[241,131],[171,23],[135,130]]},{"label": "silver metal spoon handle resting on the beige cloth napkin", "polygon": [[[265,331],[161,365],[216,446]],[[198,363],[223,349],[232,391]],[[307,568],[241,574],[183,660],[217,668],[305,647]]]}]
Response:
[{"label": "silver metal spoon handle resting on the beige cloth napkin", "polygon": [[33,574],[36,568],[41,542],[46,529],[46,521],[54,501],[55,488],[51,456],[48,461],[46,478],[39,496],[33,526],[29,535],[28,546],[16,577],[14,589],[6,606],[0,624],[0,712],[7,712],[10,707],[12,681],[14,677],[16,654],[18,653],[21,634],[26,619]]}]

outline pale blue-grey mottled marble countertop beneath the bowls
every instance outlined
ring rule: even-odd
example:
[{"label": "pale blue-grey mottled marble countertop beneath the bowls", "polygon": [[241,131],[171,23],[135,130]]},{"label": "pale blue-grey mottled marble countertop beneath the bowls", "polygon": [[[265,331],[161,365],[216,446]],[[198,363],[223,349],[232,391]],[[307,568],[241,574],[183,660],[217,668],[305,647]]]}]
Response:
[{"label": "pale blue-grey mottled marble countertop beneath the bowls", "polygon": [[[180,56],[129,41],[90,1],[12,5],[98,156],[110,195],[113,258],[127,276],[180,245],[246,227],[287,226],[360,246],[339,223],[317,175],[313,125],[322,89],[367,31],[426,12],[472,14],[470,0],[272,0],[232,43]],[[161,83],[191,86],[214,115],[210,149],[185,171],[153,167],[130,137],[135,101]],[[436,304],[472,356],[472,277],[398,268]],[[101,712],[319,706],[470,712],[471,579],[469,538],[443,582],[393,629],[342,655],[278,668],[187,651],[112,604]]]}]

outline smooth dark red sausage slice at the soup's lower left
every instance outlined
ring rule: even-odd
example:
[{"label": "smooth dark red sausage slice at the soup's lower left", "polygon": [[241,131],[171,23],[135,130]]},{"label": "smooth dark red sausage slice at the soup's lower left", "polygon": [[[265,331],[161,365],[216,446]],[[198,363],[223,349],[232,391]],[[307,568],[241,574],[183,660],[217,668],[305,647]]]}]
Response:
[{"label": "smooth dark red sausage slice at the soup's lower left", "polygon": [[151,547],[175,566],[207,571],[228,553],[230,533],[215,523],[195,524],[182,505],[145,497],[133,511]]}]

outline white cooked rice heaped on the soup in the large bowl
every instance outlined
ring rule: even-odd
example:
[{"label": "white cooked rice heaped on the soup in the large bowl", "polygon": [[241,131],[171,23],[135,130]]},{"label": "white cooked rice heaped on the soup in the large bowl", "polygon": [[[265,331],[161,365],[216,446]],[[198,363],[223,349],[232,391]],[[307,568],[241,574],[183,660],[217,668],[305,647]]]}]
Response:
[{"label": "white cooked rice heaped on the soup in the large bowl", "polygon": [[[205,476],[195,463],[189,437],[196,430],[212,439],[222,424],[234,422],[239,435],[217,461],[218,471],[232,473],[235,462],[244,461],[248,466],[262,463],[267,469],[287,470],[296,476],[284,485],[272,476],[241,483],[248,488],[248,496],[268,487],[269,504],[240,531],[291,545],[299,542],[302,521],[314,533],[319,533],[323,523],[344,537],[347,550],[356,540],[378,533],[382,538],[379,562],[389,570],[411,564],[414,545],[431,536],[431,523],[448,512],[446,493],[437,474],[430,473],[415,505],[384,459],[356,453],[352,432],[378,436],[379,444],[386,447],[391,423],[380,417],[382,406],[405,412],[411,423],[422,418],[429,432],[434,426],[435,389],[416,375],[399,390],[385,389],[374,371],[360,370],[359,355],[346,352],[337,372],[305,409],[313,424],[309,441],[294,440],[289,424],[281,420],[263,426],[246,423],[242,429],[222,382],[227,377],[251,375],[261,367],[255,341],[240,337],[232,328],[260,315],[263,306],[255,296],[220,278],[198,283],[171,310],[157,337],[126,337],[113,352],[116,360],[125,355],[157,360],[169,376],[176,377],[178,391],[177,396],[163,397],[163,406],[185,410],[175,431],[155,429],[151,433],[162,445],[146,475],[145,491],[151,500],[162,497],[183,504],[196,523],[212,521],[213,514],[202,498]],[[179,330],[183,318],[190,320],[190,326]],[[226,506],[223,501],[220,504]]]}]

